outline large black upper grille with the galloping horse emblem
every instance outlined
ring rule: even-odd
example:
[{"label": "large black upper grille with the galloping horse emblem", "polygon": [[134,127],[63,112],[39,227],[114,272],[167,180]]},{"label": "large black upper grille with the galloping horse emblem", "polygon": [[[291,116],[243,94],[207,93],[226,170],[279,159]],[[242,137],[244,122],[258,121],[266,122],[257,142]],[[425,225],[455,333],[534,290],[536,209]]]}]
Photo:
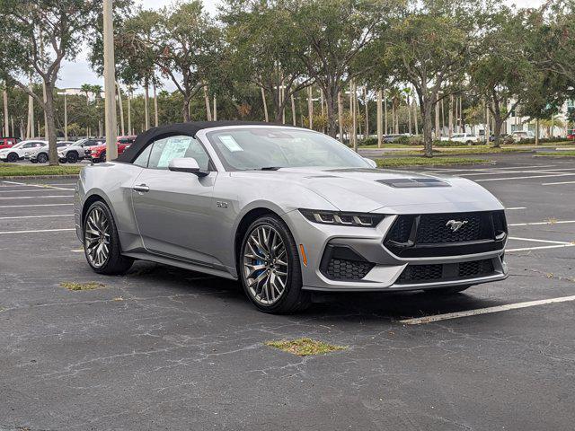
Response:
[{"label": "large black upper grille with the galloping horse emblem", "polygon": [[506,236],[503,211],[402,215],[384,243],[400,257],[456,256],[502,250]]}]

